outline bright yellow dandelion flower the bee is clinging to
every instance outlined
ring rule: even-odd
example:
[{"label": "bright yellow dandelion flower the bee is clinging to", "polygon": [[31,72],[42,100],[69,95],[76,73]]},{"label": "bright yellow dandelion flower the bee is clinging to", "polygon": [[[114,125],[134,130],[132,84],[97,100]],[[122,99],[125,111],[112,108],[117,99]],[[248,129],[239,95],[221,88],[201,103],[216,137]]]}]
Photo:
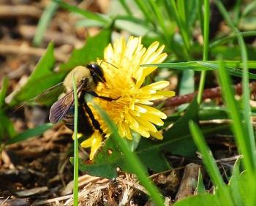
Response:
[{"label": "bright yellow dandelion flower the bee is clinging to", "polygon": [[[149,85],[143,85],[145,78],[157,69],[157,66],[140,66],[141,64],[159,64],[167,57],[162,53],[164,45],[159,47],[159,42],[152,43],[148,49],[141,44],[140,37],[130,37],[128,42],[124,38],[117,39],[113,45],[108,45],[104,51],[104,61],[98,59],[97,64],[102,66],[107,83],[99,83],[96,93],[100,96],[109,96],[117,99],[112,102],[94,98],[94,103],[105,110],[116,123],[121,137],[132,140],[132,131],[138,132],[142,137],[155,137],[162,139],[162,134],[157,131],[157,126],[162,126],[162,119],[167,118],[165,113],[151,107],[152,101],[174,96],[173,91],[162,91],[169,85],[168,81],[159,81]],[[91,107],[91,105],[89,105]],[[91,107],[95,118],[99,121],[102,130],[110,135],[107,124]],[[96,131],[91,138],[84,143],[91,147],[91,153],[95,154],[92,140],[100,134]],[[91,141],[91,142],[90,142]],[[96,141],[96,140],[95,140]],[[100,140],[101,141],[101,140]],[[83,144],[83,143],[82,143]],[[91,155],[91,157],[94,155]]]}]

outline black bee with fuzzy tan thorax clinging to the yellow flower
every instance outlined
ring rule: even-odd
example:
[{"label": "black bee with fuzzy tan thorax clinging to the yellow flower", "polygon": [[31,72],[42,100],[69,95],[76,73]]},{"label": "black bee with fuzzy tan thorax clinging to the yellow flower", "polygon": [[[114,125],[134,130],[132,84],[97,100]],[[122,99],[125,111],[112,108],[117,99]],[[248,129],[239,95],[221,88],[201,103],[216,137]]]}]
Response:
[{"label": "black bee with fuzzy tan thorax clinging to the yellow flower", "polygon": [[63,85],[66,88],[66,94],[50,107],[49,120],[56,123],[62,119],[64,124],[74,130],[74,92],[72,79],[75,76],[78,92],[78,133],[82,133],[85,137],[91,136],[94,129],[99,130],[103,134],[99,126],[99,122],[94,118],[93,112],[84,99],[86,94],[94,97],[112,101],[107,96],[99,96],[94,90],[98,83],[106,83],[102,67],[98,64],[88,64],[85,66],[76,66],[65,78]]}]

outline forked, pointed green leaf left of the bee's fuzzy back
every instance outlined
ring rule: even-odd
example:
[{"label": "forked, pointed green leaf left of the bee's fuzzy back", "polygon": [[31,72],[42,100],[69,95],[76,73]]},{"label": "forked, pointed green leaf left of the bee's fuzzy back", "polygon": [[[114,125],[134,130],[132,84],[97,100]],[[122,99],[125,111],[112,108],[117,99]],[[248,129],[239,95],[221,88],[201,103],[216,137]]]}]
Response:
[{"label": "forked, pointed green leaf left of the bee's fuzzy back", "polygon": [[[39,60],[25,85],[13,91],[10,96],[7,96],[9,106],[13,107],[20,102],[27,102],[34,98],[34,96],[41,94],[47,88],[59,83],[67,72],[53,72],[54,64],[53,43],[51,42],[48,45],[45,55]],[[52,99],[52,102],[56,101],[56,99]]]}]

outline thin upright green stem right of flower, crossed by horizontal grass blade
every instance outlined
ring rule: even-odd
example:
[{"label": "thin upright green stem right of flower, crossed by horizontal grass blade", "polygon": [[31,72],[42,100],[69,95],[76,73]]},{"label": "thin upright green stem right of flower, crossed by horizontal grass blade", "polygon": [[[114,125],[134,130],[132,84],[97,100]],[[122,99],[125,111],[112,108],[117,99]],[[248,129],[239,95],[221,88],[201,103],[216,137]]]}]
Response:
[{"label": "thin upright green stem right of flower, crossed by horizontal grass blade", "polygon": [[[199,11],[200,12],[200,11]],[[210,18],[210,5],[209,0],[204,0],[204,20],[203,20],[203,61],[208,60],[209,49],[209,18]],[[197,95],[197,102],[200,104],[203,96],[203,88],[206,83],[206,71],[201,72],[200,83]]]}]

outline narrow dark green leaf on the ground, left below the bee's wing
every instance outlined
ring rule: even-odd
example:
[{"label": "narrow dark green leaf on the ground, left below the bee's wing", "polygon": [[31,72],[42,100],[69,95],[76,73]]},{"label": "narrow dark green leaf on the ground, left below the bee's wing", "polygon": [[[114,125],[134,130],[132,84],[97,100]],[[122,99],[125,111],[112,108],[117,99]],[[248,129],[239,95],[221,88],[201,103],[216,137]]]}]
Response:
[{"label": "narrow dark green leaf on the ground, left below the bee's wing", "polygon": [[12,139],[8,140],[6,144],[10,145],[16,142],[27,140],[31,137],[36,137],[52,127],[53,127],[52,123],[45,123],[40,126],[37,126],[36,128],[27,129],[26,131],[23,131],[22,133],[17,134],[15,137],[12,137]]}]

